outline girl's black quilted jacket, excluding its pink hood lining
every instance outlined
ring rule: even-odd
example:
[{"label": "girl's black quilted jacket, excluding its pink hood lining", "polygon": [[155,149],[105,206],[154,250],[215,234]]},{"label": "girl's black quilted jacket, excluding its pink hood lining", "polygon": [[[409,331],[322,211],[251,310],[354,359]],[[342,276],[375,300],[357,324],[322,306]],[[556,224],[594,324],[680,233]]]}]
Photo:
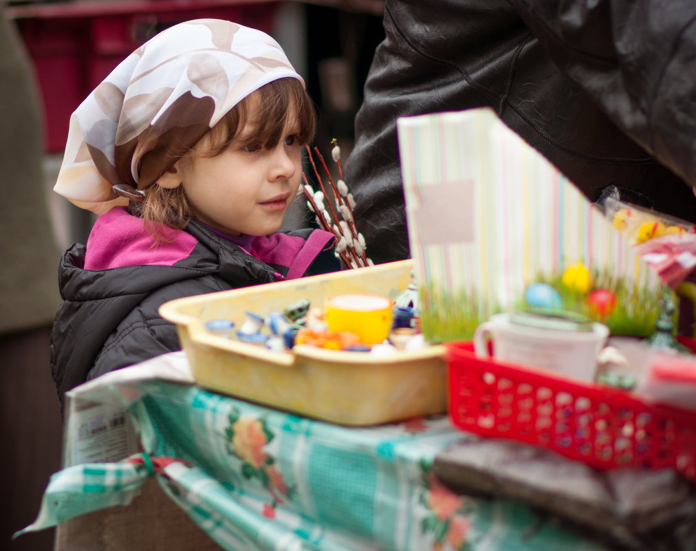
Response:
[{"label": "girl's black quilted jacket, excluding its pink hood lining", "polygon": [[[157,313],[166,301],[274,282],[287,274],[287,266],[266,264],[200,223],[189,223],[185,231],[197,243],[187,257],[170,266],[86,270],[84,245],[76,243],[65,252],[59,271],[63,303],[51,342],[51,369],[61,405],[63,394],[84,381],[179,350],[175,326]],[[315,231],[286,234],[307,241]],[[304,276],[340,269],[333,247],[313,258]]]}]

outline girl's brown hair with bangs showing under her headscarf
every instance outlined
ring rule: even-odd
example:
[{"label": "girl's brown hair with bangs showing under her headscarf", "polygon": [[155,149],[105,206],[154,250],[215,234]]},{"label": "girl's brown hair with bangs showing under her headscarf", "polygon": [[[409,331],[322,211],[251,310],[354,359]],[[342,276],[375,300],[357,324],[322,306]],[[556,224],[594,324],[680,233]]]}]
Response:
[{"label": "girl's brown hair with bangs showing under her headscarf", "polygon": [[[254,95],[260,101],[252,104],[250,98]],[[258,109],[252,111],[251,105],[254,108],[258,106]],[[242,99],[196,145],[175,156],[179,157],[180,166],[185,172],[193,159],[221,154],[235,141],[252,116],[255,129],[249,141],[263,144],[264,147],[275,147],[283,138],[287,114],[292,107],[299,121],[297,137],[301,144],[310,143],[316,129],[314,104],[298,79],[284,78],[271,81]],[[132,207],[135,207],[135,214],[143,218],[145,227],[157,241],[166,241],[162,232],[158,231],[159,225],[182,230],[192,217],[184,186],[166,189],[154,184],[147,189],[145,200],[140,205],[132,204]]]}]

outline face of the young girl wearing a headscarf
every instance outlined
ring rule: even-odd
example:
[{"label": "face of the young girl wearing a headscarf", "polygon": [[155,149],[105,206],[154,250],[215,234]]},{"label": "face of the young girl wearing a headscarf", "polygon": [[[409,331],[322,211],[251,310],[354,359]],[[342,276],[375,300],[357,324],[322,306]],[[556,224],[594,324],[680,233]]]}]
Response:
[{"label": "face of the young girl wearing a headscarf", "polygon": [[274,147],[254,143],[254,129],[249,117],[226,150],[214,157],[194,157],[182,173],[193,215],[227,234],[278,231],[301,182],[303,144],[295,112],[288,113]]}]

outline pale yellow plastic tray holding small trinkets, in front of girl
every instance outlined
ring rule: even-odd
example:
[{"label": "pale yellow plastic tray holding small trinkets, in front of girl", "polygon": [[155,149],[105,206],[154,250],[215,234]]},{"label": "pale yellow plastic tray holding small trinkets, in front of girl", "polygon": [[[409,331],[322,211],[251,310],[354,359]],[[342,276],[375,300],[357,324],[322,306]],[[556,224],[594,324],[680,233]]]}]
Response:
[{"label": "pale yellow plastic tray holding small trinkets, in front of girl", "polygon": [[379,264],[300,280],[269,283],[161,305],[177,326],[191,372],[203,387],[308,417],[371,425],[444,413],[447,409],[443,346],[400,351],[393,356],[295,346],[269,351],[219,337],[206,321],[231,319],[246,310],[267,315],[307,298],[321,308],[333,294],[369,292],[396,298],[411,282],[411,260]]}]

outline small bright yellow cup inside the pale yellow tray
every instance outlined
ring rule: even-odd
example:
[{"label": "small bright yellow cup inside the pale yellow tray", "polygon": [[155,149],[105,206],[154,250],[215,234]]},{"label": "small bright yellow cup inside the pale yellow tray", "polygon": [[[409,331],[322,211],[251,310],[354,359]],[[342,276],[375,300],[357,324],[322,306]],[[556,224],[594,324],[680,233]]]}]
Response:
[{"label": "small bright yellow cup inside the pale yellow tray", "polygon": [[341,294],[326,299],[326,325],[332,331],[349,331],[365,344],[386,339],[392,324],[394,302],[386,296]]}]

